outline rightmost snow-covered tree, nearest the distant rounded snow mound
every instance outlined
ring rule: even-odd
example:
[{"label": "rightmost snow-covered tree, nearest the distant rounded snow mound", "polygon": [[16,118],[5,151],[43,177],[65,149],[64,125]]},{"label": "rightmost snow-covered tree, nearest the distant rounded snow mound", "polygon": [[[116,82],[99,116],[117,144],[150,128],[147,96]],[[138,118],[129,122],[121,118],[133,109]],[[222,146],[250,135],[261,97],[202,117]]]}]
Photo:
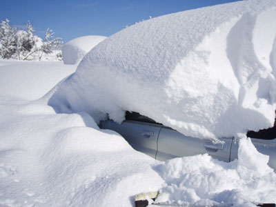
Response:
[{"label": "rightmost snow-covered tree, nearest the distant rounded snow mound", "polygon": [[52,48],[59,48],[63,44],[63,41],[60,37],[55,37],[54,39],[52,39],[54,34],[55,32],[53,32],[49,28],[46,30],[45,39],[43,39],[43,43],[40,48],[41,55],[39,57],[39,60],[41,60],[43,53],[50,54],[52,53]]}]

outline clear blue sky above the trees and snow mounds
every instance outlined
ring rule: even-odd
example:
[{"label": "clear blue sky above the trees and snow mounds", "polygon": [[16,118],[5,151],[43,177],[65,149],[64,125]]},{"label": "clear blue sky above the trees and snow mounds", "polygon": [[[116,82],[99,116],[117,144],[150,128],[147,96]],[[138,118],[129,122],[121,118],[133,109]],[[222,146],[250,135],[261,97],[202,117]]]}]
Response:
[{"label": "clear blue sky above the trees and snow mounds", "polygon": [[1,19],[12,26],[28,20],[43,37],[47,28],[64,42],[84,35],[110,36],[135,21],[237,0],[1,0]]}]

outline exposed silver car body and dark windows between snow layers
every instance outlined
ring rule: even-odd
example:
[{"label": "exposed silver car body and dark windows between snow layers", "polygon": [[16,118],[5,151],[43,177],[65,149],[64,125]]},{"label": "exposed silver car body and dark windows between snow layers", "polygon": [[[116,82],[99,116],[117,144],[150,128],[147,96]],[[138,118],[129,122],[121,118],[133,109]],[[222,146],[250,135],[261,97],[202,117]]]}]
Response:
[{"label": "exposed silver car body and dark windows between snow layers", "polygon": [[[100,128],[115,130],[135,150],[161,161],[204,153],[223,161],[233,161],[239,148],[239,140],[233,137],[221,138],[224,144],[213,144],[208,139],[185,136],[137,112],[126,112],[126,120],[121,124],[110,119],[101,121]],[[270,156],[268,165],[276,169],[276,127],[249,131],[247,135],[259,152]]]}]

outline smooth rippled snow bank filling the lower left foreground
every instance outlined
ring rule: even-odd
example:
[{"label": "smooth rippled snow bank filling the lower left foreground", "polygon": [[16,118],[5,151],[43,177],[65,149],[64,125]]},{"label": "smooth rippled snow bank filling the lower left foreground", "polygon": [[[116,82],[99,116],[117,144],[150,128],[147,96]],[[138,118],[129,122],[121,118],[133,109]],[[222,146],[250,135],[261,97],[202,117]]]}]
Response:
[{"label": "smooth rippled snow bank filling the lower left foreground", "polygon": [[156,161],[86,113],[0,99],[0,206],[134,206]]}]

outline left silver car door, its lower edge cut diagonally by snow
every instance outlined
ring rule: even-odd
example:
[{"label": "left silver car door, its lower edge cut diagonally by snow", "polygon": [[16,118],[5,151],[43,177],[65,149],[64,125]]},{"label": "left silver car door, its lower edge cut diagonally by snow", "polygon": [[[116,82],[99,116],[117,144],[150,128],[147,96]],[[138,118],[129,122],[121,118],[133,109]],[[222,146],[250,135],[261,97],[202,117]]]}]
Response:
[{"label": "left silver car door, its lower edge cut diagonally by snow", "polygon": [[161,125],[132,120],[126,120],[121,124],[117,124],[115,121],[107,120],[103,128],[115,130],[128,141],[132,148],[155,158],[157,153],[157,137]]}]

